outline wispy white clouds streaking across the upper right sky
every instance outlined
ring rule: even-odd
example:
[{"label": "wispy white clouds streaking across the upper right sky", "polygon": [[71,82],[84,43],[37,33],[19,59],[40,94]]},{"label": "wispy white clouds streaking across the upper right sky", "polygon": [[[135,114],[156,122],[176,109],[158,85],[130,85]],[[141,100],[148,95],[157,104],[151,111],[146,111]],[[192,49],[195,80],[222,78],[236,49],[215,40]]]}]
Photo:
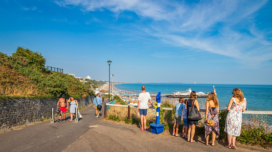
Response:
[{"label": "wispy white clouds streaking across the upper right sky", "polygon": [[[80,6],[82,11],[119,14],[135,12],[149,24],[138,30],[161,42],[236,58],[245,65],[257,66],[272,59],[271,31],[255,25],[257,11],[268,0],[213,0],[187,3],[174,0],[55,0],[60,6]],[[155,55],[156,56],[156,53]],[[170,55],[171,56],[171,55]],[[158,56],[159,57],[159,56]]]}]

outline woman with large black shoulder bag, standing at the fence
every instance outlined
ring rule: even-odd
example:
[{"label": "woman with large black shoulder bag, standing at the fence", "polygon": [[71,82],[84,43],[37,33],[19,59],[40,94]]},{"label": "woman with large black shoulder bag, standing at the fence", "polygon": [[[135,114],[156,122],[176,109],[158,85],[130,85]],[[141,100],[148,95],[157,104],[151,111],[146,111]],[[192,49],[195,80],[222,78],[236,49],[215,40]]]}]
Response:
[{"label": "woman with large black shoulder bag, standing at the fence", "polygon": [[[186,102],[185,108],[188,109],[188,107],[192,107],[192,105],[194,105],[195,108],[200,110],[199,105],[198,105],[198,101],[196,99],[197,99],[197,93],[196,93],[196,91],[192,91],[190,94],[190,98]],[[189,116],[189,111],[187,110],[187,124],[189,124],[188,140],[187,141],[190,141],[191,143],[193,143],[193,142],[195,142],[195,140],[193,140],[193,138],[195,135],[196,125],[198,125],[198,121],[190,120],[190,119],[188,119],[188,116]]]}]

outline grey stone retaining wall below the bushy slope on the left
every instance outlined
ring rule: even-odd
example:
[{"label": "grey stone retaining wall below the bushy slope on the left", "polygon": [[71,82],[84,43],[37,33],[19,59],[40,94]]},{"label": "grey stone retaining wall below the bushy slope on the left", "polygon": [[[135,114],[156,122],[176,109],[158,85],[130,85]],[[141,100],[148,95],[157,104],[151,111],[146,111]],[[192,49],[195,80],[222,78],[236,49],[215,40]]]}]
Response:
[{"label": "grey stone retaining wall below the bushy slope on the left", "polygon": [[[76,99],[78,107],[88,107],[93,104],[94,96]],[[13,99],[0,101],[0,130],[38,122],[51,118],[52,108],[57,108],[58,99]]]}]

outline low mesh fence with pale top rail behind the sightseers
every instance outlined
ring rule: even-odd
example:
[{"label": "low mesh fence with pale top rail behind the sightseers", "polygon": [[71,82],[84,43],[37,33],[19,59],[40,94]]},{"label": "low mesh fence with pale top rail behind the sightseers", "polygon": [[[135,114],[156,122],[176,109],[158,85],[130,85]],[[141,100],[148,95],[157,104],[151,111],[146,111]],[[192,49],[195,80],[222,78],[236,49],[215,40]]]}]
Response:
[{"label": "low mesh fence with pale top rail behind the sightseers", "polygon": [[[105,117],[113,116],[120,120],[124,118],[136,118],[140,119],[137,115],[137,106],[131,105],[114,105],[105,104],[107,107],[105,110]],[[162,108],[162,120],[160,123],[174,124],[174,116],[176,108]],[[199,121],[199,127],[204,125],[206,109],[200,109],[202,119]],[[222,110],[220,110],[222,111]],[[226,111],[226,110],[224,110]],[[156,108],[149,107],[147,109],[146,119],[148,122],[156,122]],[[182,119],[181,119],[182,121]],[[263,128],[266,133],[272,132],[272,111],[244,111],[242,115],[242,128]]]}]

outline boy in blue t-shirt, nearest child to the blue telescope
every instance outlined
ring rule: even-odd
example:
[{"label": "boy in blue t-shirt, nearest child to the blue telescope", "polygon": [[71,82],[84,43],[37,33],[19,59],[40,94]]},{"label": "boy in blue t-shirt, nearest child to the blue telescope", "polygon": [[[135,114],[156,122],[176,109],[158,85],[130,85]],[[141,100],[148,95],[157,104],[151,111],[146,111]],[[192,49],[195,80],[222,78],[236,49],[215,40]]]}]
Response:
[{"label": "boy in blue t-shirt, nearest child to the blue telescope", "polygon": [[179,131],[179,126],[181,124],[181,116],[182,116],[182,109],[183,109],[183,105],[181,103],[183,103],[183,101],[184,101],[184,98],[180,98],[179,103],[177,103],[176,105],[176,113],[174,117],[174,127],[173,127],[173,136],[176,136],[176,137],[181,136],[180,134],[178,134],[178,131]]}]

